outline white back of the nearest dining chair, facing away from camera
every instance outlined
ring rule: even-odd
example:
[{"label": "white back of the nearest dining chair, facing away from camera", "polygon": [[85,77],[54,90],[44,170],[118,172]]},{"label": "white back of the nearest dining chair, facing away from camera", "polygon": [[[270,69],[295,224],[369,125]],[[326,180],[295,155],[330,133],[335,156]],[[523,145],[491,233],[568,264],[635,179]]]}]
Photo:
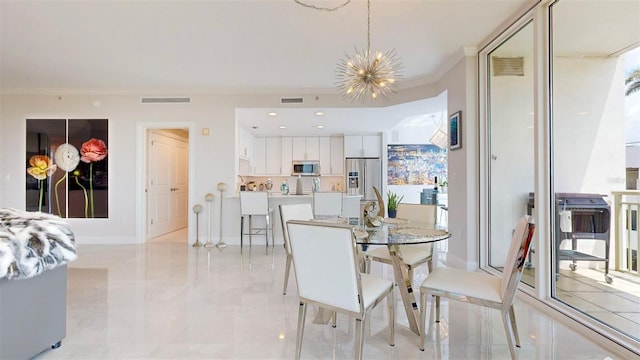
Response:
[{"label": "white back of the nearest dining chair, facing away from camera", "polygon": [[352,228],[299,220],[290,220],[287,226],[300,299],[361,314],[364,305],[358,301],[362,288]]}]

